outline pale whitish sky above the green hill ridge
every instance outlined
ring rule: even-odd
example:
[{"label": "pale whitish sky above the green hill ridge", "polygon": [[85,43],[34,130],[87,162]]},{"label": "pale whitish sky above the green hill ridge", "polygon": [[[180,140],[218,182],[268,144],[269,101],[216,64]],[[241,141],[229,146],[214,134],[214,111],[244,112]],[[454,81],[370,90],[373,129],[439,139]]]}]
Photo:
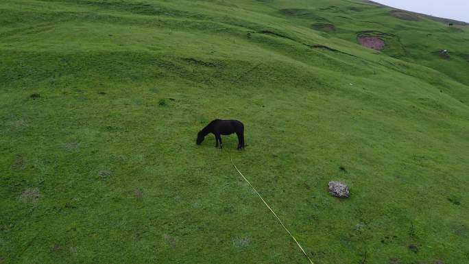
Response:
[{"label": "pale whitish sky above the green hill ridge", "polygon": [[374,0],[393,8],[469,23],[469,0]]}]

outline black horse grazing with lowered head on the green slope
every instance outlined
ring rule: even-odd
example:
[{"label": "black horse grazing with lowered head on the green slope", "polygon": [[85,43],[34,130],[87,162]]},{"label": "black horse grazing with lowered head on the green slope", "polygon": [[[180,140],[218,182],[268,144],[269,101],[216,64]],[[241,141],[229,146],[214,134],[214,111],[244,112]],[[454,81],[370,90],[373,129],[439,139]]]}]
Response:
[{"label": "black horse grazing with lowered head on the green slope", "polygon": [[215,145],[215,147],[218,147],[218,142],[220,142],[220,148],[223,148],[223,143],[221,143],[220,135],[229,135],[236,133],[238,136],[237,149],[244,148],[244,125],[240,121],[220,119],[215,119],[211,121],[208,125],[206,125],[205,128],[200,130],[200,132],[197,134],[197,141],[195,141],[197,145],[200,145],[200,143],[204,141],[204,138],[208,133],[212,133],[215,135],[215,141],[217,141],[217,145]]}]

